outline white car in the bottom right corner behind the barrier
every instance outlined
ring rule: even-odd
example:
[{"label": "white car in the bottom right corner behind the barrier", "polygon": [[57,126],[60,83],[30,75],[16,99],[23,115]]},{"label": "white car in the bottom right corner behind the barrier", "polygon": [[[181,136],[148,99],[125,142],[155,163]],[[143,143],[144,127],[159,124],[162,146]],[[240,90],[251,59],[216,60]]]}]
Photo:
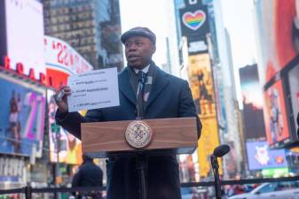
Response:
[{"label": "white car in the bottom right corner behind the barrier", "polygon": [[299,199],[299,181],[264,183],[247,194],[233,195],[228,199]]}]

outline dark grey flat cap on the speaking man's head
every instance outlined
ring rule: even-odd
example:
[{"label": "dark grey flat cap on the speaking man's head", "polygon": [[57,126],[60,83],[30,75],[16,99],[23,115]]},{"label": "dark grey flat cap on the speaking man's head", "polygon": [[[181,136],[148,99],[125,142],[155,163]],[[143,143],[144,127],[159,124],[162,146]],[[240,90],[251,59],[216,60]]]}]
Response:
[{"label": "dark grey flat cap on the speaking man's head", "polygon": [[145,36],[147,37],[153,44],[156,43],[156,35],[147,28],[147,27],[133,27],[121,36],[122,43],[126,42],[126,40],[130,36]]}]

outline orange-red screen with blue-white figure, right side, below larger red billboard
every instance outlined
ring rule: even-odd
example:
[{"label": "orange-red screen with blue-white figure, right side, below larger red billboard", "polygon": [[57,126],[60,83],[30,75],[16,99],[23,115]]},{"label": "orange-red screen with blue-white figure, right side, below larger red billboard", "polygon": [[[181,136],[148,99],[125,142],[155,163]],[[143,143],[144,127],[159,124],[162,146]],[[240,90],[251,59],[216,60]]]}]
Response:
[{"label": "orange-red screen with blue-white figure, right side, below larger red billboard", "polygon": [[277,80],[264,91],[264,121],[267,141],[272,145],[289,142],[287,111],[281,80]]}]

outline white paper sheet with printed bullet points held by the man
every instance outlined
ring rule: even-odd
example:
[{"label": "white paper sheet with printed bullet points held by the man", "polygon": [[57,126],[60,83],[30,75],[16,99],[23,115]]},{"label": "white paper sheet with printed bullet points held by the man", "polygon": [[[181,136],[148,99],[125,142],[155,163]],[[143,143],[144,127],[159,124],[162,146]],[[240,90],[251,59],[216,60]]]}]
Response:
[{"label": "white paper sheet with printed bullet points held by the man", "polygon": [[72,75],[67,85],[72,90],[67,98],[70,112],[120,105],[116,67]]}]

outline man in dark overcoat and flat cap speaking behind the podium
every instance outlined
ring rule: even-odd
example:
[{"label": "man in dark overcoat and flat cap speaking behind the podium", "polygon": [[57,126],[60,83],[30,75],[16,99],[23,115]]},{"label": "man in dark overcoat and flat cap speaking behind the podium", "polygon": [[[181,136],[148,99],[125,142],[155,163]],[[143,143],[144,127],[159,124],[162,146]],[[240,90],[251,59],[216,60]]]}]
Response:
[{"label": "man in dark overcoat and flat cap speaking behind the podium", "polygon": [[[152,61],[155,34],[147,27],[134,27],[122,34],[121,40],[128,66],[118,75],[120,106],[90,110],[85,117],[68,112],[67,96],[71,90],[66,86],[55,94],[59,106],[57,123],[80,139],[83,122],[196,117],[199,138],[201,121],[187,81],[161,71]],[[107,161],[107,199],[140,198],[136,167],[136,157],[115,157]],[[149,156],[147,198],[181,199],[178,171],[175,154]]]}]

